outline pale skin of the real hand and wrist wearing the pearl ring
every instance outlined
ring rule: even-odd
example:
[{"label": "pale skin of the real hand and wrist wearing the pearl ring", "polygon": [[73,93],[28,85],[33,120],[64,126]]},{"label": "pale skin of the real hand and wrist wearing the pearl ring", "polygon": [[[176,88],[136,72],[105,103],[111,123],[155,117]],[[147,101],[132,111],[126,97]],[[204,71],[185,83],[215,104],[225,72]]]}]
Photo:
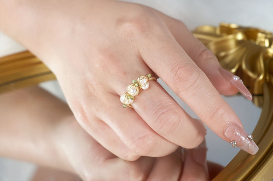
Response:
[{"label": "pale skin of the real hand and wrist wearing the pearl ring", "polygon": [[[206,134],[242,126],[220,94],[238,89],[185,24],[119,1],[1,0],[0,30],[55,73],[79,124],[116,156],[166,156],[194,148]],[[202,120],[189,116],[155,81],[122,108],[120,95],[146,73],[160,77]]]}]

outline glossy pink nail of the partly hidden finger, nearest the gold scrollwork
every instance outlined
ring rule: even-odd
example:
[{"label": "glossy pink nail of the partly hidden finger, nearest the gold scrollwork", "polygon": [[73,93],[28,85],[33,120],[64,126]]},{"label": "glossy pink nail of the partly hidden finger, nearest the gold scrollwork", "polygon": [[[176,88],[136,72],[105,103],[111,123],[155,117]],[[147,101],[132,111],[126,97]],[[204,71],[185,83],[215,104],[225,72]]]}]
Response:
[{"label": "glossy pink nail of the partly hidden finger, nearest the gold scrollwork", "polygon": [[252,95],[251,93],[248,91],[248,89],[245,87],[243,81],[240,79],[239,76],[234,75],[233,73],[230,73],[229,71],[221,68],[220,69],[220,73],[223,75],[223,77],[225,77],[230,83],[232,83],[235,87],[237,87],[237,89],[239,90],[239,92],[245,96],[245,98],[247,98],[248,100],[252,100]]}]

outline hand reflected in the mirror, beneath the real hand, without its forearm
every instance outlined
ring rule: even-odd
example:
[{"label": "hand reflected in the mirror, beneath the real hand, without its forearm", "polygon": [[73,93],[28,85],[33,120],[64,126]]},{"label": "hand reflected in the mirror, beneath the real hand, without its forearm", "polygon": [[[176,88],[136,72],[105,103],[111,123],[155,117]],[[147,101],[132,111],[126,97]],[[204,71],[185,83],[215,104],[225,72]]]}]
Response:
[{"label": "hand reflected in the mirror, beneath the real hand, without its forearm", "polygon": [[56,145],[69,161],[61,169],[71,166],[83,180],[211,180],[223,168],[206,161],[205,141],[194,149],[179,147],[169,156],[132,162],[103,148],[73,117],[59,125]]}]

